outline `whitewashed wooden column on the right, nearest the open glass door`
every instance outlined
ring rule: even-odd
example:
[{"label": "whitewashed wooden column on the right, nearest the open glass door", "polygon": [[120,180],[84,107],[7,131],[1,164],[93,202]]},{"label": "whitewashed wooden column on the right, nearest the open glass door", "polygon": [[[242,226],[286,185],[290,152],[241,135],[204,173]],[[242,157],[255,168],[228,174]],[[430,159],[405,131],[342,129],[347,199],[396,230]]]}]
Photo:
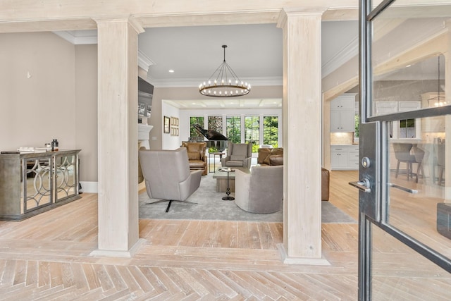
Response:
[{"label": "whitewashed wooden column on the right, nearest the open glass door", "polygon": [[283,11],[283,246],[287,264],[321,259],[321,15]]}]

